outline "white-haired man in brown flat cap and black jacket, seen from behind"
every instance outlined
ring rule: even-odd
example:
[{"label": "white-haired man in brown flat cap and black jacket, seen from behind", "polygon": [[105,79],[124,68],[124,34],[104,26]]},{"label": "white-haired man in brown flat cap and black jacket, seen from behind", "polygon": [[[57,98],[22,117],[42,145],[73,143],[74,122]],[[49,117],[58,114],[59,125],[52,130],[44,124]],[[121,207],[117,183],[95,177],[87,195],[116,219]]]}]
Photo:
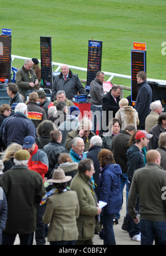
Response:
[{"label": "white-haired man in brown flat cap and black jacket, seen from behind", "polygon": [[2,244],[13,245],[16,235],[19,234],[21,245],[32,245],[37,227],[37,205],[45,194],[45,188],[40,174],[28,169],[29,152],[18,150],[14,157],[15,165],[0,179],[0,186],[6,194],[8,204]]}]

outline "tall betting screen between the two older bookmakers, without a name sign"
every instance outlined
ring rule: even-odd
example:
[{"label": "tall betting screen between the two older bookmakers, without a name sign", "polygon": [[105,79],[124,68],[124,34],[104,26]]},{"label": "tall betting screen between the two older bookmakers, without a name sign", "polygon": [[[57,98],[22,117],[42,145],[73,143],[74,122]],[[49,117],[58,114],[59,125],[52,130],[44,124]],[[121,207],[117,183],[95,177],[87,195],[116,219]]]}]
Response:
[{"label": "tall betting screen between the two older bookmakers, without a name sign", "polygon": [[40,37],[41,78],[45,87],[52,87],[51,37]]}]

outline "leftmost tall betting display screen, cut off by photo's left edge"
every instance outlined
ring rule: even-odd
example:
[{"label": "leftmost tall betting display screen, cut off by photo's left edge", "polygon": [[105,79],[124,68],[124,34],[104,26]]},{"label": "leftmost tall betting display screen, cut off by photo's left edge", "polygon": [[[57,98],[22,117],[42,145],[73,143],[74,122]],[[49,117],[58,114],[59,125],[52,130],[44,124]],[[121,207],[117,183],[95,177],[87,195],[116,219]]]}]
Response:
[{"label": "leftmost tall betting display screen, cut off by photo's left edge", "polygon": [[11,82],[11,36],[0,35],[0,82]]}]

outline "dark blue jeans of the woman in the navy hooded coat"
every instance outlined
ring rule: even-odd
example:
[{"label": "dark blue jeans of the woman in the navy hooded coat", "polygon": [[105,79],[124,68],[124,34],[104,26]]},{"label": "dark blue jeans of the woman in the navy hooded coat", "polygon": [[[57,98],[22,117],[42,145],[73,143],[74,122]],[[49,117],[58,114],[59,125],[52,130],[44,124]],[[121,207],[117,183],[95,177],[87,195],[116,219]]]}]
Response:
[{"label": "dark blue jeans of the woman in the navy hooded coat", "polygon": [[115,214],[107,214],[103,211],[102,224],[104,230],[103,245],[116,245],[115,234],[113,232],[113,219]]}]

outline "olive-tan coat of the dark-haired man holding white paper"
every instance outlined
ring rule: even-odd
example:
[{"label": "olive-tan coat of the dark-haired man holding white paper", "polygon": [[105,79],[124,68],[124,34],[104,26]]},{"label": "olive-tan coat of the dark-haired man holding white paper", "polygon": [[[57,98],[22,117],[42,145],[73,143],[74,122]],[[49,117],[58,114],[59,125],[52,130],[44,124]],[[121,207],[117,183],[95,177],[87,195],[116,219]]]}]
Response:
[{"label": "olive-tan coat of the dark-haired man holding white paper", "polygon": [[95,233],[97,201],[89,180],[89,176],[78,172],[70,183],[70,189],[76,191],[80,205],[80,215],[77,219],[78,240],[89,240],[94,237]]}]

